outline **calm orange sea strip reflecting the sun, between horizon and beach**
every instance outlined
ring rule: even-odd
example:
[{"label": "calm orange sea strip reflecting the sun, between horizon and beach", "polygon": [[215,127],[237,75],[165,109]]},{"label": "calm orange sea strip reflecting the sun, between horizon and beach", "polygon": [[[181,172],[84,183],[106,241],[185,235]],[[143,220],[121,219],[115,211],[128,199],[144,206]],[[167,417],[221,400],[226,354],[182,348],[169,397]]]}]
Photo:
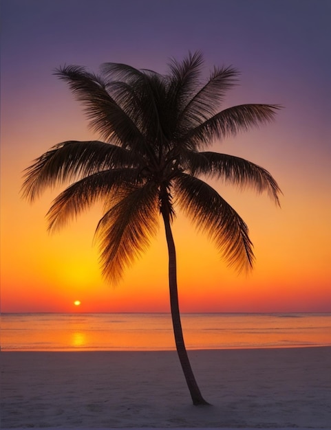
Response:
[{"label": "calm orange sea strip reflecting the sun, between horizon and beach", "polygon": [[[331,314],[182,314],[187,349],[331,346]],[[173,350],[167,313],[1,315],[1,349]]]}]

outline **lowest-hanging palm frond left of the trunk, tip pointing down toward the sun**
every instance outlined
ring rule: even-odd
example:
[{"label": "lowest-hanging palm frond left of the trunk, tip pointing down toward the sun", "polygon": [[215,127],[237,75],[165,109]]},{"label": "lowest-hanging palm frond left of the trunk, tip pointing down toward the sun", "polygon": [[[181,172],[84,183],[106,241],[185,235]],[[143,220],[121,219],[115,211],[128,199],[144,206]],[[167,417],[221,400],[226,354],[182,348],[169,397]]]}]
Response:
[{"label": "lowest-hanging palm frond left of the trunk, tip pointing down toward the sun", "polygon": [[103,275],[114,283],[147,249],[159,217],[158,187],[153,183],[121,188],[117,198],[118,203],[106,212],[96,229]]}]

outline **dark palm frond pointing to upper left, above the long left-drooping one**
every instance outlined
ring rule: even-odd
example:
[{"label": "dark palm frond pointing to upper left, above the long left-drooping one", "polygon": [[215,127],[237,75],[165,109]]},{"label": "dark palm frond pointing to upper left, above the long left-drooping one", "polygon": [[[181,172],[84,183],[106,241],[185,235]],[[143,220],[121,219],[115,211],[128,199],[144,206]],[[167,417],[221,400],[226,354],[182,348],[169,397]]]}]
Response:
[{"label": "dark palm frond pointing to upper left, above the long left-drooping one", "polygon": [[107,81],[78,66],[62,67],[55,74],[67,82],[76,99],[83,102],[89,126],[102,139],[124,147],[142,140],[138,126],[107,92]]}]

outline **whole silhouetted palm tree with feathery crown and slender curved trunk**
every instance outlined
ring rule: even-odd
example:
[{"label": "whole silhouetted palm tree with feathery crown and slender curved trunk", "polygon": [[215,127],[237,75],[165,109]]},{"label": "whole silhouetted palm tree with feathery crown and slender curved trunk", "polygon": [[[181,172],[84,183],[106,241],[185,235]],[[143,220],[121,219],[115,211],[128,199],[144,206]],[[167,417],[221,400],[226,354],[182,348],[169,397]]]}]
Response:
[{"label": "whole silhouetted palm tree with feathery crown and slender curved trunk", "polygon": [[264,168],[239,157],[206,151],[213,141],[273,120],[277,105],[242,104],[220,110],[238,72],[214,67],[202,82],[202,54],[178,62],[169,73],[105,63],[100,74],[65,66],[56,75],[83,103],[100,141],[62,142],[25,170],[23,194],[34,201],[41,192],[67,184],[47,213],[54,231],[96,201],[104,213],[96,227],[103,275],[118,282],[123,270],[149,245],[162,217],[169,250],[171,317],[186,383],[194,405],[206,405],[186,353],[176,277],[171,224],[175,205],[206,231],[228,264],[253,266],[248,227],[203,178],[267,192],[279,203],[279,187]]}]

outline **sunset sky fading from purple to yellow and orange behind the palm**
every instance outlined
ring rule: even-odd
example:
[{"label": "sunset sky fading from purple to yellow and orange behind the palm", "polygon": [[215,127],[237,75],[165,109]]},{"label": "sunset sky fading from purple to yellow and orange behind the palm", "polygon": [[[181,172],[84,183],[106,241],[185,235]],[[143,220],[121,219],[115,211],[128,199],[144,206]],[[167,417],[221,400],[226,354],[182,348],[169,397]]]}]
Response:
[{"label": "sunset sky fading from purple to yellow and orange behind the palm", "polygon": [[161,223],[112,286],[93,241],[101,207],[50,235],[45,214],[61,188],[33,205],[20,189],[23,170],[54,144],[98,139],[56,67],[113,62],[166,73],[170,58],[200,50],[206,77],[214,65],[241,72],[224,107],[284,106],[272,124],[212,148],[263,166],[283,195],[279,208],[264,194],[212,183],[250,229],[248,275],[226,267],[178,212],[181,310],[331,312],[330,19],[329,0],[2,0],[1,311],[169,311]]}]

